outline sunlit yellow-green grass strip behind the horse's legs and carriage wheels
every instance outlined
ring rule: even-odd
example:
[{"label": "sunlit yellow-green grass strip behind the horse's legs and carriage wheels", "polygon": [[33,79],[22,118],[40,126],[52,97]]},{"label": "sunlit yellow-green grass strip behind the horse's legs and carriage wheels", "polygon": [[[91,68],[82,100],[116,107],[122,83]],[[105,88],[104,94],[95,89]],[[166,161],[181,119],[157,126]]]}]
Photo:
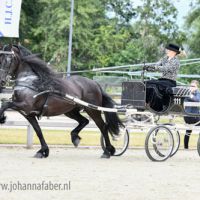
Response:
[{"label": "sunlit yellow-green grass strip behind the horse's legs and carriage wheels", "polygon": [[[146,132],[130,133],[130,147],[144,147]],[[47,144],[72,145],[69,131],[63,130],[43,130]],[[100,133],[98,131],[82,131],[82,146],[99,146]],[[0,144],[26,144],[27,133],[25,129],[0,129]],[[183,147],[183,137],[181,134],[181,147]],[[190,137],[190,147],[196,148],[198,135],[192,134]],[[34,134],[34,144],[39,144],[39,140]]]}]

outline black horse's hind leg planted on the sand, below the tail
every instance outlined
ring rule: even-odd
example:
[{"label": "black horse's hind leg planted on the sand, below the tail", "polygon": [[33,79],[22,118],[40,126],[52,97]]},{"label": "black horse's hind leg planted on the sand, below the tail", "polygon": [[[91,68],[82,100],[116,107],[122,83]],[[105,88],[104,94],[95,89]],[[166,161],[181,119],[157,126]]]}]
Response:
[{"label": "black horse's hind leg planted on the sand, below the tail", "polygon": [[110,156],[114,155],[115,148],[110,143],[110,139],[108,136],[108,128],[101,117],[101,112],[96,111],[96,110],[91,110],[91,109],[87,109],[86,112],[94,120],[95,124],[100,129],[100,131],[105,139],[106,149],[101,157],[102,158],[110,158]]}]

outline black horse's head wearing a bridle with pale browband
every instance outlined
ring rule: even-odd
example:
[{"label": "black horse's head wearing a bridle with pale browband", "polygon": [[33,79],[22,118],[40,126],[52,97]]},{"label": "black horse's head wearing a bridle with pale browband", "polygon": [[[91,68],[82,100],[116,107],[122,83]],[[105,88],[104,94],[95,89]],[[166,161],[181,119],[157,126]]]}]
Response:
[{"label": "black horse's head wearing a bridle with pale browband", "polygon": [[0,85],[6,83],[7,77],[15,76],[20,63],[20,50],[15,46],[4,46],[0,51]]}]

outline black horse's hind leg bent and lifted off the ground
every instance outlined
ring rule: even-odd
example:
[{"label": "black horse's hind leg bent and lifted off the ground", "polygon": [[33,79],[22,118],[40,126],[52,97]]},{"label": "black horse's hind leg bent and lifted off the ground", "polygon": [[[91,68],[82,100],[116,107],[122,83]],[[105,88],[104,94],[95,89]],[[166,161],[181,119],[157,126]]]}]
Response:
[{"label": "black horse's hind leg bent and lifted off the ground", "polygon": [[72,143],[75,147],[78,147],[81,140],[78,134],[89,123],[89,120],[80,114],[79,109],[72,110],[71,112],[65,113],[65,115],[79,123],[78,126],[71,131]]}]

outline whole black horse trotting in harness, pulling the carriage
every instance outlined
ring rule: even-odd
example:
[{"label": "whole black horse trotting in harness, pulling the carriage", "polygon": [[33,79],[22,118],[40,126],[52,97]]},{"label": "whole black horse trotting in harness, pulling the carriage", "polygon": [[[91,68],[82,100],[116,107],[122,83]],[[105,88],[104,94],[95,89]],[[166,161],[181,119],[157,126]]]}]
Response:
[{"label": "whole black horse trotting in harness, pulling the carriage", "polygon": [[[62,79],[37,55],[31,54],[21,46],[7,46],[0,53],[0,84],[11,76],[15,80],[12,101],[6,102],[0,109],[0,123],[5,122],[4,111],[8,108],[21,113],[33,126],[41,143],[41,149],[35,157],[48,157],[49,148],[43,137],[37,118],[41,116],[56,116],[64,114],[76,120],[79,124],[71,132],[73,144],[77,147],[80,142],[79,132],[89,123],[80,114],[81,110],[94,120],[100,129],[106,143],[103,158],[114,155],[115,148],[111,145],[108,132],[118,135],[123,126],[116,113],[104,112],[104,122],[101,112],[83,107],[62,98],[64,94],[77,97],[96,106],[112,108],[114,101],[102,90],[95,81],[81,76],[71,76]],[[43,91],[50,91],[35,95]]]}]

